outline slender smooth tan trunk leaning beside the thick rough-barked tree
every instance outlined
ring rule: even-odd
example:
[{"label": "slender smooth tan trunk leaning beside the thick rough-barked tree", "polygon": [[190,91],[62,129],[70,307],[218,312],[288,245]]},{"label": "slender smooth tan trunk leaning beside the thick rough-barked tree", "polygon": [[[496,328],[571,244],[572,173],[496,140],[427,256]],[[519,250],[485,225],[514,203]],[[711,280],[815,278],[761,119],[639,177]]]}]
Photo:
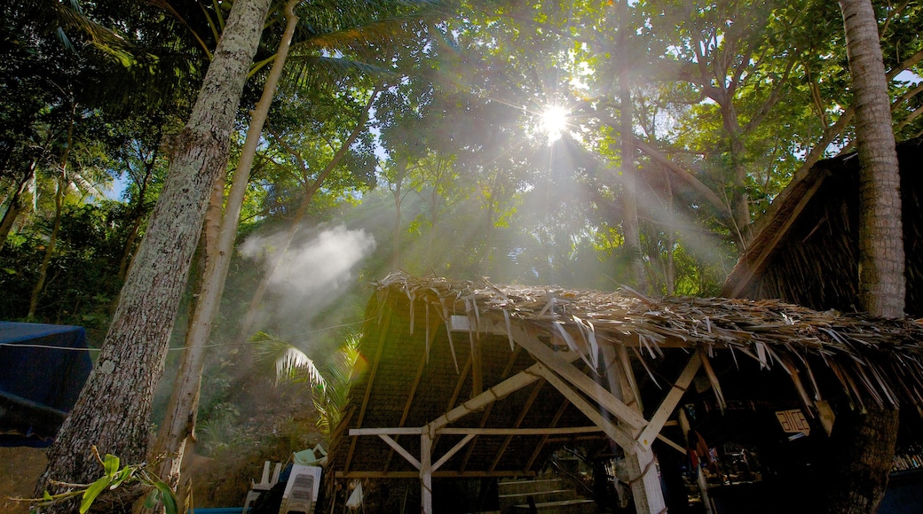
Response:
[{"label": "slender smooth tan trunk leaning beside the thick rough-barked tree", "polygon": [[[285,4],[287,20],[285,31],[282,34],[282,41],[279,42],[279,49],[272,63],[270,75],[263,86],[262,96],[247,129],[246,141],[234,172],[234,181],[224,208],[224,215],[219,215],[221,222],[217,230],[217,239],[207,241],[209,244],[206,251],[205,275],[198,290],[198,301],[192,313],[189,331],[186,333],[186,352],[179,374],[174,381],[174,389],[170,396],[165,419],[150,453],[151,456],[164,456],[159,470],[160,477],[174,489],[179,484],[180,466],[183,463],[186,440],[193,434],[195,428],[199,388],[205,364],[205,346],[209,342],[212,324],[221,308],[224,281],[231,265],[231,256],[234,253],[234,239],[237,235],[240,211],[244,205],[246,184],[250,180],[250,170],[253,168],[260,134],[263,132],[263,125],[269,115],[272,98],[279,85],[282,67],[288,56],[295,26],[298,24],[298,18],[293,11],[297,1],[288,0]],[[215,188],[210,205],[219,213],[222,198],[223,187],[221,191]],[[214,230],[206,230],[207,234],[214,232]]]}]

